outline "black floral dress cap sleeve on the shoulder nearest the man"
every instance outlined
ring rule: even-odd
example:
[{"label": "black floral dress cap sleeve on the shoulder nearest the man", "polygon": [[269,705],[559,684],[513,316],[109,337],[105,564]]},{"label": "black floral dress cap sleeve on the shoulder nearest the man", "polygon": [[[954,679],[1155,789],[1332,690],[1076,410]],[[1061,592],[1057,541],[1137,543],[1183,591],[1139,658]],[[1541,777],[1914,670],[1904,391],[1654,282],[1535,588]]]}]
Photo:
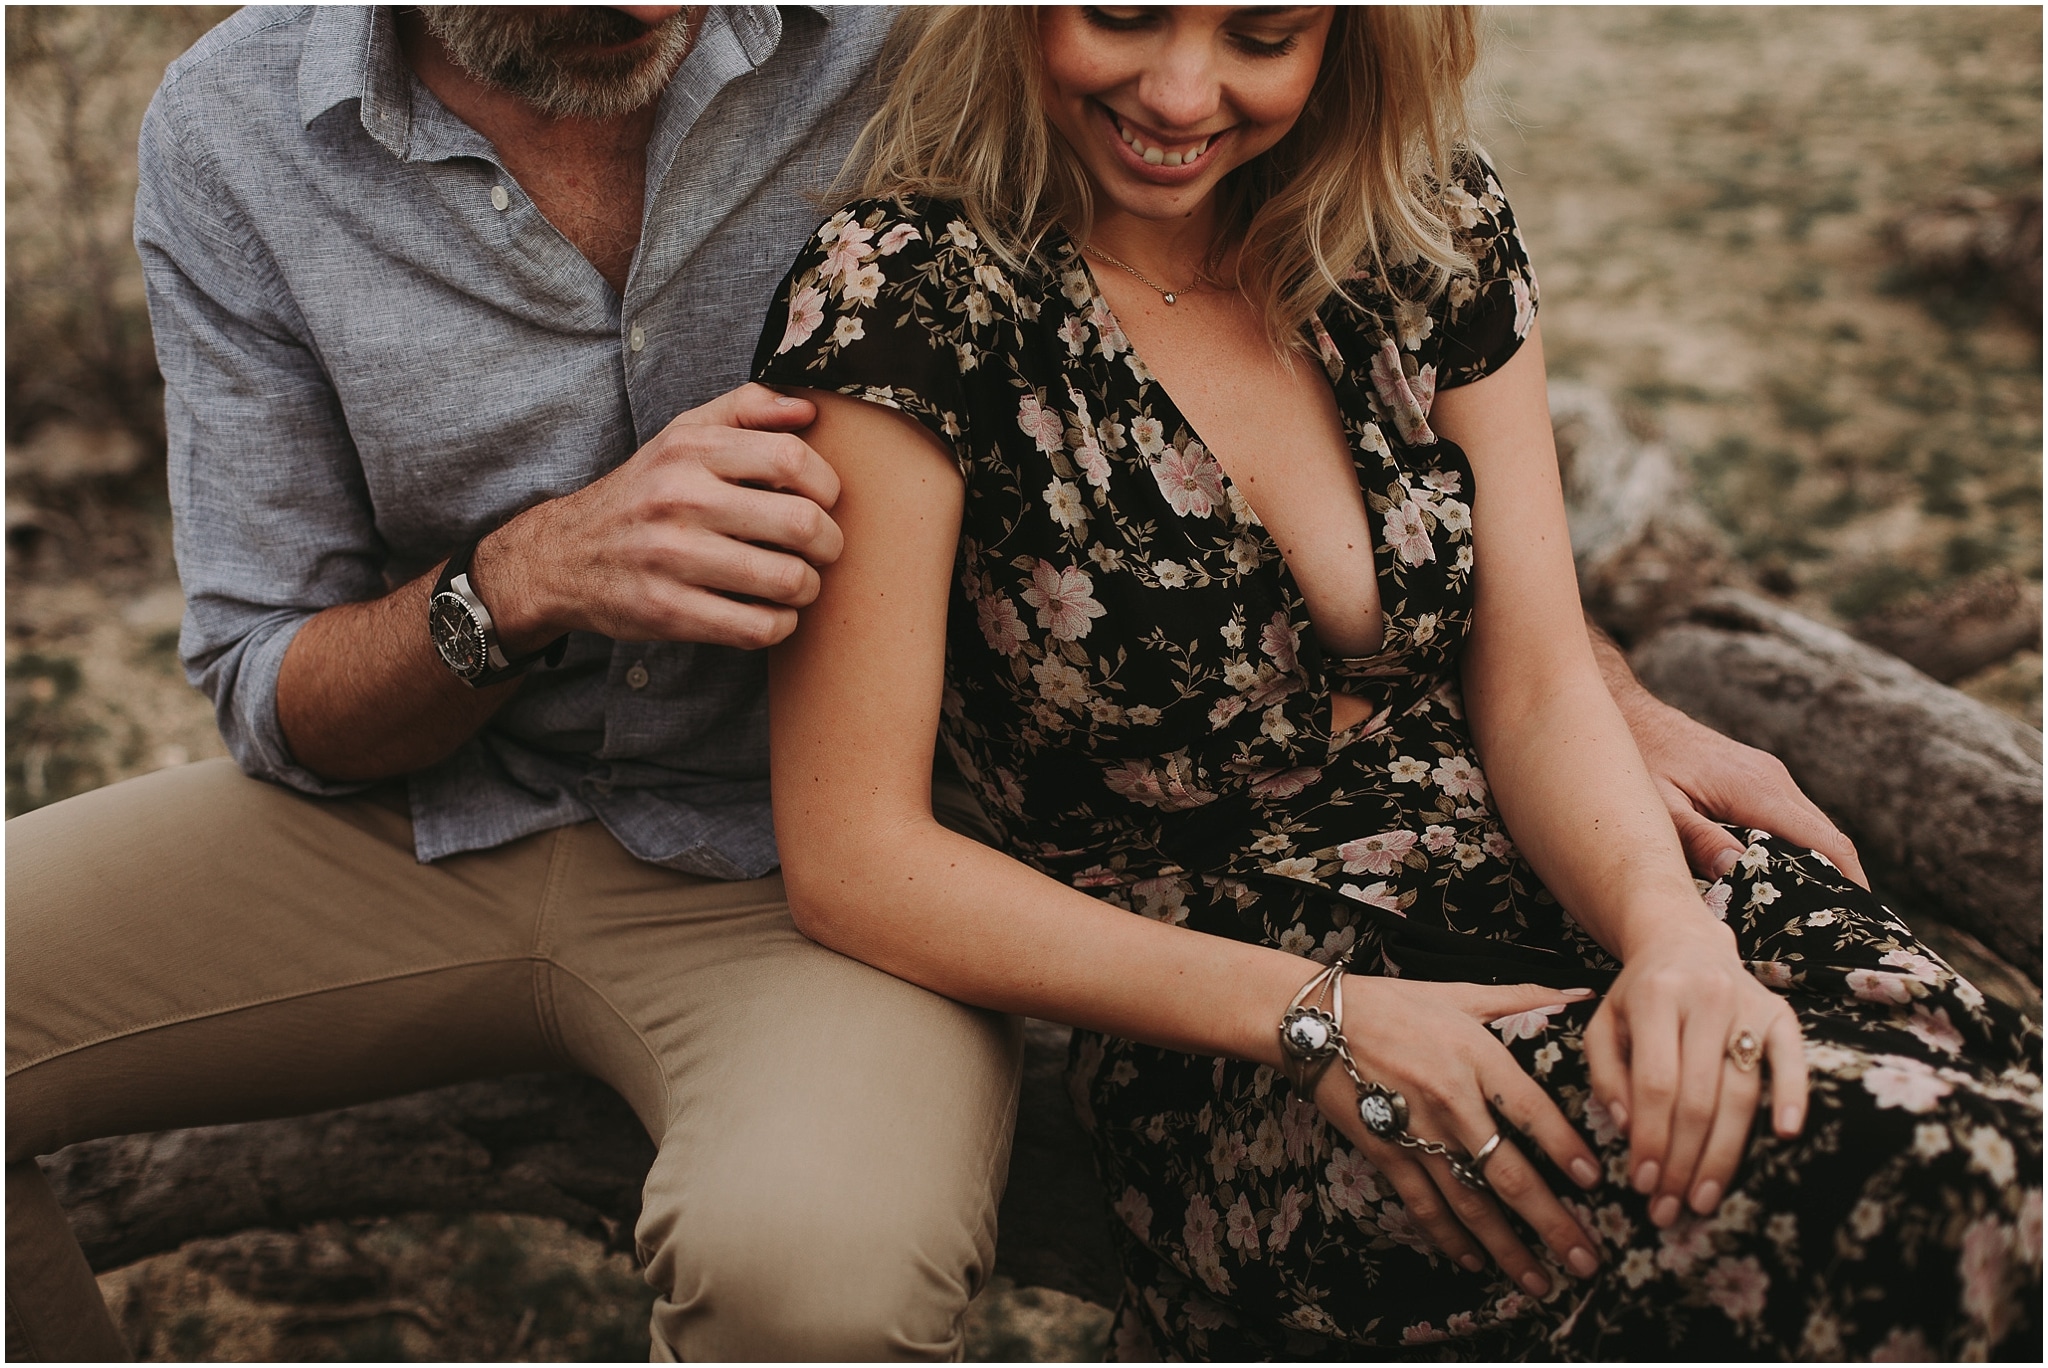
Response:
[{"label": "black floral dress cap sleeve on the shoulder nearest the man", "polygon": [[895,199],[856,201],[825,219],[776,289],[754,379],[899,410],[958,455],[965,315],[948,305],[934,225],[948,233],[944,215]]}]

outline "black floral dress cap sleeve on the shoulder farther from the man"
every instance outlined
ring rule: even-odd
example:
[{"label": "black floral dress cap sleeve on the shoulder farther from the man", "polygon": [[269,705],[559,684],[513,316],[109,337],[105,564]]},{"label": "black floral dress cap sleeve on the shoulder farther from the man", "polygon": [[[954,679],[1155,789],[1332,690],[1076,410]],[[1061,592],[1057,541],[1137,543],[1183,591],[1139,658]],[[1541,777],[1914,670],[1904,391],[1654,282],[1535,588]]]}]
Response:
[{"label": "black floral dress cap sleeve on the shoulder farther from the man", "polygon": [[1440,391],[1499,371],[1536,324],[1536,272],[1501,182],[1479,152],[1460,156],[1446,199],[1458,246],[1477,274],[1454,276],[1446,289]]}]

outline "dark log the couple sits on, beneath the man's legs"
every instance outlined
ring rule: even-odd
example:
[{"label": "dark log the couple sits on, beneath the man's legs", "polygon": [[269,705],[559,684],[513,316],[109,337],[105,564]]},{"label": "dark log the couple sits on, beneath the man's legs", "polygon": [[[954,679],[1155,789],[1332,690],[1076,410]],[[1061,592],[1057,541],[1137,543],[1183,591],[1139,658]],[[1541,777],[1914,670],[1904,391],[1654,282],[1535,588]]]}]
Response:
[{"label": "dark log the couple sits on, beneath the man's legs", "polygon": [[[1065,1094],[1067,1028],[1030,1022],[995,1272],[1112,1305],[1116,1255]],[[250,1229],[416,1210],[553,1216],[633,1249],[653,1145],[604,1083],[530,1073],[317,1116],[72,1145],[47,1159],[94,1270]]]}]

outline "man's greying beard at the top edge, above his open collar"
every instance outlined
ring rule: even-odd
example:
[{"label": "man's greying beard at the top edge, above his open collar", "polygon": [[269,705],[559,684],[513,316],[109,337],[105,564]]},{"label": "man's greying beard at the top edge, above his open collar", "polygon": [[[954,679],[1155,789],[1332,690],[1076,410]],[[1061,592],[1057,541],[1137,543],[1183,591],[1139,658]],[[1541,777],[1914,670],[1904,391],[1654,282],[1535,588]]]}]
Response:
[{"label": "man's greying beard at the top edge, above his open collar", "polygon": [[[551,119],[612,119],[651,104],[692,37],[690,10],[651,27],[598,6],[422,4],[420,16],[463,72]],[[633,39],[645,41],[590,51]]]}]

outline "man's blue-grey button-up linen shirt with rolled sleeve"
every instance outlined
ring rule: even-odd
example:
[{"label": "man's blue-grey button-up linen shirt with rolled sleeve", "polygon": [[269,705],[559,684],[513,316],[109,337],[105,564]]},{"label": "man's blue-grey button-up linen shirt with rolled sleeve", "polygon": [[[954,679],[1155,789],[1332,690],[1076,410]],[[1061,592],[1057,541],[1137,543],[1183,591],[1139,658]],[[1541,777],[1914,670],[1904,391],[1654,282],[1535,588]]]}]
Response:
[{"label": "man's blue-grey button-up linen shirt with rolled sleeve", "polygon": [[[135,246],[180,651],[250,774],[360,788],[295,764],[279,727],[279,666],[309,616],[584,487],[745,381],[823,217],[813,197],[872,111],[887,25],[709,10],[662,96],[623,299],[414,78],[389,12],[242,10],[170,68],[143,121]],[[764,874],[766,664],[578,633],[410,784],[420,860],[596,817],[643,860]]]}]

